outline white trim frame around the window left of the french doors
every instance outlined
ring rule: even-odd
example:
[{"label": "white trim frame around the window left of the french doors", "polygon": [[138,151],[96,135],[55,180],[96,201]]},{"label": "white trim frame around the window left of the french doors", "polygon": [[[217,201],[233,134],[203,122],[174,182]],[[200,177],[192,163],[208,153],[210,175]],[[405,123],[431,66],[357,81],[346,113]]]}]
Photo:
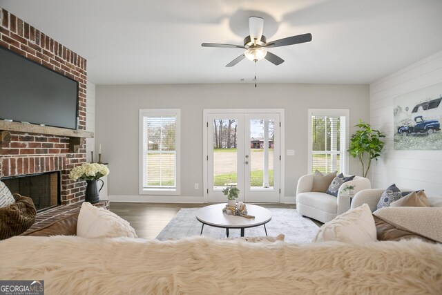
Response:
[{"label": "white trim frame around the window left of the french doors", "polygon": [[[174,189],[146,189],[143,187],[143,118],[146,115],[160,116],[160,115],[175,115],[175,188]],[[138,119],[138,165],[139,165],[139,180],[138,190],[140,195],[180,195],[181,178],[180,178],[180,163],[181,163],[181,109],[180,108],[142,108]]]}]

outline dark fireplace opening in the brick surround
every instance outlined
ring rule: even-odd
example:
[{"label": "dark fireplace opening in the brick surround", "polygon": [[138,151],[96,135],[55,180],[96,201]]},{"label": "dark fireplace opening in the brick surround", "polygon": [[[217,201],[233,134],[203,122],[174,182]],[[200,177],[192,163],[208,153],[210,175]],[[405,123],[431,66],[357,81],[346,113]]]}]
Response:
[{"label": "dark fireplace opening in the brick surround", "polygon": [[60,202],[59,171],[18,175],[1,179],[11,193],[27,196],[34,202],[37,212],[57,207]]}]

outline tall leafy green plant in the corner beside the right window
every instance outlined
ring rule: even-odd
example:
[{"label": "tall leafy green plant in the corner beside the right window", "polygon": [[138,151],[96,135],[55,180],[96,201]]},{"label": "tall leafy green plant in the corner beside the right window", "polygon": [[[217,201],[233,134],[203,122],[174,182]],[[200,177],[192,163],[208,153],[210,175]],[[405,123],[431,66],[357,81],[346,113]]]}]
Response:
[{"label": "tall leafy green plant in the corner beside the right window", "polygon": [[359,120],[356,131],[350,138],[350,147],[348,152],[354,158],[358,158],[362,164],[362,175],[367,177],[368,171],[372,164],[372,160],[378,160],[379,155],[384,147],[385,142],[381,141],[381,137],[385,135],[378,130],[372,129],[370,124]]}]

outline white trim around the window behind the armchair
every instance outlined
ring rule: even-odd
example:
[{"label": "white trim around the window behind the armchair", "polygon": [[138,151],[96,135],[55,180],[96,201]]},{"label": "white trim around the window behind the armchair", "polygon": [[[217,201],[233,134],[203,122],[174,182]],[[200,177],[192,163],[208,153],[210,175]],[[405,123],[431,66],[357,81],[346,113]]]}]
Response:
[{"label": "white trim around the window behind the armchair", "polygon": [[313,161],[311,160],[312,158],[312,153],[311,153],[311,116],[344,116],[345,117],[345,164],[344,164],[344,171],[340,171],[343,172],[344,174],[348,174],[349,173],[349,154],[347,152],[348,150],[348,144],[349,144],[349,118],[350,118],[350,111],[349,109],[334,109],[334,108],[309,108],[308,109],[308,115],[307,115],[307,120],[308,120],[308,131],[307,131],[307,143],[308,143],[308,165],[307,165],[307,174],[310,174],[312,169],[313,169]]}]

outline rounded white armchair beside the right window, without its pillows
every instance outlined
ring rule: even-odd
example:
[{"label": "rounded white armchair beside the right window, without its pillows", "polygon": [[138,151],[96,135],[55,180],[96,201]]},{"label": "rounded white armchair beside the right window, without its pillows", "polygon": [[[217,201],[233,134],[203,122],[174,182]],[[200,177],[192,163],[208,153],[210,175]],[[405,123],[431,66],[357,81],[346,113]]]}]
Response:
[{"label": "rounded white armchair beside the right window, without its pillows", "polygon": [[[349,175],[345,175],[348,177]],[[313,188],[314,174],[302,175],[296,188],[296,209],[302,216],[316,219],[320,222],[333,220],[339,214],[350,209],[350,196],[341,193],[343,186],[354,185],[354,193],[363,189],[370,189],[368,178],[355,176],[353,180],[342,184],[338,190],[338,197],[327,193],[311,191]]]}]

